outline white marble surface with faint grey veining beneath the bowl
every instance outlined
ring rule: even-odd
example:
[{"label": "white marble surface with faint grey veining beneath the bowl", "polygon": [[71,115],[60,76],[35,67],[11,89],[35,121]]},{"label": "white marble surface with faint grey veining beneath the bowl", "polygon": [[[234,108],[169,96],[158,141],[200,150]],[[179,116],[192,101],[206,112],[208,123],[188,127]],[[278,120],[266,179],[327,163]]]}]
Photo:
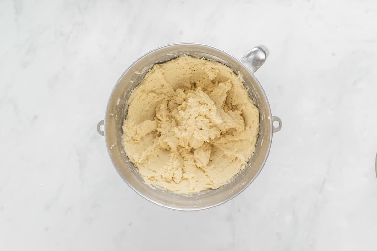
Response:
[{"label": "white marble surface with faint grey veining beneath the bowl", "polygon": [[[0,30],[0,250],[376,250],[377,2],[3,0]],[[268,46],[284,122],[254,183],[197,212],[133,192],[96,131],[127,66],[182,41]]]}]

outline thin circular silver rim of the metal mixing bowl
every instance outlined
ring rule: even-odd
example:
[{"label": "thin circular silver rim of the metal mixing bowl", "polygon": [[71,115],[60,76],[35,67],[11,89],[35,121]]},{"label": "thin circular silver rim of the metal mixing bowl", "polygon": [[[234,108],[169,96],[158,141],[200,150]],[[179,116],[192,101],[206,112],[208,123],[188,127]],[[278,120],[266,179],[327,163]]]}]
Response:
[{"label": "thin circular silver rim of the metal mixing bowl", "polygon": [[[256,172],[256,175],[248,182],[248,184],[246,184],[237,193],[234,193],[233,195],[229,196],[228,198],[226,198],[226,199],[224,199],[222,201],[219,201],[219,202],[211,204],[211,205],[202,206],[202,207],[177,207],[177,206],[174,206],[174,205],[168,205],[168,204],[161,203],[159,201],[156,201],[156,200],[154,200],[152,198],[149,198],[148,196],[144,195],[144,193],[140,192],[138,189],[136,189],[136,187],[132,186],[126,180],[126,178],[121,174],[120,170],[118,169],[118,167],[116,166],[116,164],[114,162],[114,159],[112,158],[112,152],[110,151],[110,147],[111,146],[109,145],[110,143],[107,140],[107,130],[106,130],[107,123],[106,123],[106,120],[109,117],[109,104],[110,104],[110,101],[112,99],[112,96],[113,96],[116,88],[121,83],[121,79],[123,78],[123,76],[133,67],[133,65],[135,65],[139,60],[143,59],[144,57],[148,56],[149,54],[151,54],[151,53],[153,53],[153,52],[155,52],[157,50],[165,49],[167,47],[182,46],[182,45],[187,45],[187,46],[195,45],[195,46],[202,46],[202,47],[207,47],[207,48],[210,48],[210,49],[215,49],[215,50],[217,50],[217,51],[219,51],[221,53],[224,53],[225,55],[233,58],[235,61],[237,61],[241,67],[243,67],[245,70],[247,70],[253,76],[255,82],[257,83],[257,85],[261,89],[263,97],[264,97],[264,99],[266,101],[266,104],[267,104],[267,108],[268,108],[267,109],[268,113],[269,113],[268,120],[270,120],[270,135],[271,135],[270,141],[268,142],[267,152],[266,152],[266,155],[264,157],[264,160],[262,161],[261,166],[259,167],[258,171]],[[150,50],[147,53],[144,53],[138,59],[136,59],[135,61],[133,61],[132,64],[130,64],[129,67],[127,67],[126,70],[124,70],[124,72],[122,73],[122,75],[120,76],[120,78],[118,78],[118,80],[116,81],[116,84],[114,85],[114,87],[113,87],[113,89],[112,89],[112,91],[110,93],[110,96],[109,96],[109,99],[108,99],[107,105],[106,105],[105,118],[104,118],[104,137],[105,137],[105,142],[106,142],[107,153],[109,154],[109,157],[111,159],[111,162],[112,162],[113,166],[115,167],[116,172],[119,174],[119,176],[121,176],[121,178],[123,179],[123,181],[125,181],[126,184],[129,187],[132,188],[132,190],[134,190],[140,196],[142,196],[143,198],[145,198],[148,201],[152,202],[153,204],[159,205],[159,206],[164,207],[164,208],[169,208],[169,209],[176,210],[176,211],[199,211],[199,210],[205,210],[205,209],[213,208],[213,207],[216,207],[218,205],[224,204],[227,201],[230,201],[231,199],[233,199],[234,197],[236,197],[237,195],[239,195],[241,192],[243,192],[248,186],[250,186],[250,184],[256,179],[256,177],[259,175],[259,173],[261,173],[261,171],[262,171],[262,169],[263,169],[263,167],[264,167],[264,165],[265,165],[265,163],[267,161],[268,155],[270,154],[270,149],[271,149],[271,144],[272,144],[272,137],[273,137],[273,119],[272,119],[272,113],[271,113],[270,103],[268,102],[267,96],[265,94],[264,89],[262,88],[261,83],[258,81],[258,79],[254,75],[254,73],[251,72],[250,69],[248,67],[246,67],[238,58],[236,58],[235,56],[231,55],[230,53],[225,52],[224,50],[221,50],[221,49],[219,49],[217,47],[214,47],[214,46],[210,46],[208,44],[190,43],[190,42],[172,43],[172,44],[166,44],[164,46],[157,47],[157,48],[155,48],[153,50]],[[187,196],[187,195],[182,195],[182,196]]]}]

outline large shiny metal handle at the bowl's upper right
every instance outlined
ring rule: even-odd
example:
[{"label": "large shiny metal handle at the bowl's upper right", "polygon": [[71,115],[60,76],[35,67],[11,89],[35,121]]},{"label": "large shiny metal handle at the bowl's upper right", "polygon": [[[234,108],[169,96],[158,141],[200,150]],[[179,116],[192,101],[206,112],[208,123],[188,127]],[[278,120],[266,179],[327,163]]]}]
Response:
[{"label": "large shiny metal handle at the bowl's upper right", "polygon": [[259,69],[266,61],[270,51],[264,45],[259,45],[251,49],[246,55],[241,58],[244,64],[252,73]]}]

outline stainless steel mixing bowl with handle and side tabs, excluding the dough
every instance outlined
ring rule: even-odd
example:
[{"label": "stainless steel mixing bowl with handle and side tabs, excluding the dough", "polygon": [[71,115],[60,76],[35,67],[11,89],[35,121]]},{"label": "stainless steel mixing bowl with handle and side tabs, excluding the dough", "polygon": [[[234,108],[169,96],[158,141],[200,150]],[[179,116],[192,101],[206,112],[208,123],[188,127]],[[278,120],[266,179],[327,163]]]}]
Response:
[{"label": "stainless steel mixing bowl with handle and side tabs, excluding the dough", "polygon": [[[143,76],[154,64],[168,61],[180,55],[191,55],[197,58],[218,61],[228,65],[236,73],[240,71],[244,78],[244,85],[259,109],[259,135],[254,155],[248,161],[247,167],[239,172],[228,184],[218,189],[205,190],[193,195],[176,194],[146,185],[138,169],[124,153],[122,140],[122,125],[127,115],[127,101],[132,90],[142,81]],[[149,201],[163,207],[185,211],[214,207],[242,192],[261,172],[270,151],[272,134],[282,127],[281,120],[272,116],[266,94],[253,74],[264,63],[267,56],[268,49],[265,46],[257,46],[251,49],[240,61],[212,46],[178,43],[159,47],[137,59],[124,71],[116,83],[107,103],[105,119],[101,120],[97,125],[98,132],[105,136],[111,161],[123,180],[139,195]],[[279,126],[274,127],[274,121],[279,122]],[[104,125],[104,131],[100,129],[101,125]]]}]

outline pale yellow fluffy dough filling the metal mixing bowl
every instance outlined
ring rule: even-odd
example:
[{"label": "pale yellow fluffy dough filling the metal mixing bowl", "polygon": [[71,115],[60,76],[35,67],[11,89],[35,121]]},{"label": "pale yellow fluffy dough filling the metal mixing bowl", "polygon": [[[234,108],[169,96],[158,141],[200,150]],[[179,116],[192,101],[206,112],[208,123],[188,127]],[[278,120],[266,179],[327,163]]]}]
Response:
[{"label": "pale yellow fluffy dough filling the metal mixing bowl", "polygon": [[154,65],[132,92],[124,149],[147,184],[183,194],[216,189],[246,166],[258,118],[240,73],[179,56]]}]

